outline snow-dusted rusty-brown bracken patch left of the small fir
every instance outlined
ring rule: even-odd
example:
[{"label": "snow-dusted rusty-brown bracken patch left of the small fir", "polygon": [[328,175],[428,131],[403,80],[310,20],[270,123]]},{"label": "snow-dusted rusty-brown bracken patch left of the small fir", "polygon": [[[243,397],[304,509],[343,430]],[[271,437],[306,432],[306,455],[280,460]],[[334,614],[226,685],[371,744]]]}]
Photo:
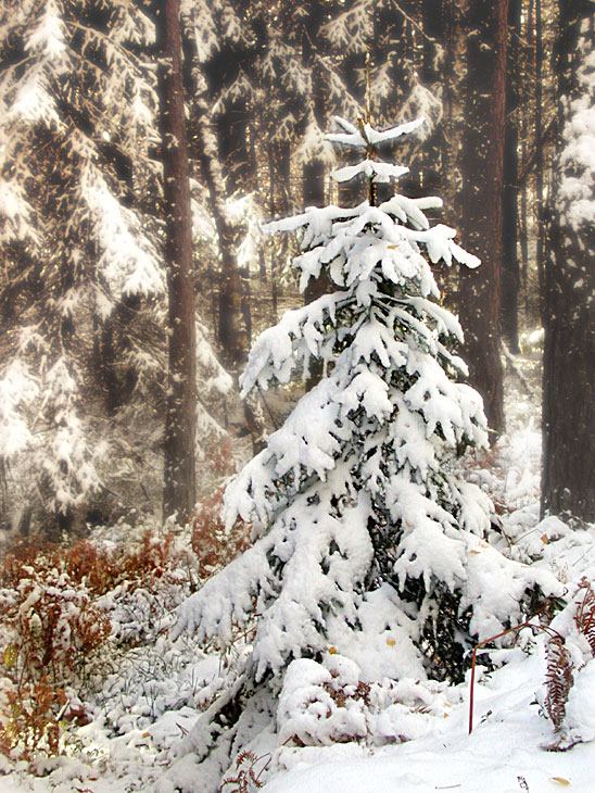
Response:
[{"label": "snow-dusted rusty-brown bracken patch left of the small fir", "polygon": [[166,629],[195,588],[193,567],[172,533],[151,531],[114,549],[39,538],[10,549],[0,562],[0,752],[56,754],[61,726],[86,719],[81,698],[114,652]]}]

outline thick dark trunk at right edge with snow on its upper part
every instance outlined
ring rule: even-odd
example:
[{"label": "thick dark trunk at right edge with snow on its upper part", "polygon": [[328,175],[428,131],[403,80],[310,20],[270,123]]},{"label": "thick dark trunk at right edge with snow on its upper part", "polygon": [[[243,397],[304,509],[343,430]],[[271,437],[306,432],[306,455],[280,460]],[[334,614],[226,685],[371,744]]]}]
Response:
[{"label": "thick dark trunk at right edge with snow on its upper part", "polygon": [[[595,520],[593,5],[560,0],[558,152],[545,268],[542,509]],[[590,65],[587,65],[587,62]],[[591,70],[591,74],[590,74]]]}]

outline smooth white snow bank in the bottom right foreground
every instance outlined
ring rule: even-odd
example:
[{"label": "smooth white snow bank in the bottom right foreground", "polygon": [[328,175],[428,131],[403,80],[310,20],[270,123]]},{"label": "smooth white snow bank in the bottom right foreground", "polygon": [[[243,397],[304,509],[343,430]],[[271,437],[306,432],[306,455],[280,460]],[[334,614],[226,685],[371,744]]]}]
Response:
[{"label": "smooth white snow bank in the bottom right foreground", "polygon": [[[592,744],[550,753],[541,746],[552,728],[539,715],[535,689],[543,654],[510,662],[477,687],[476,727],[468,734],[468,703],[452,708],[426,738],[363,752],[351,745],[300,750],[289,772],[266,793],[545,793],[568,786],[592,793]],[[296,753],[298,754],[298,753]]]}]

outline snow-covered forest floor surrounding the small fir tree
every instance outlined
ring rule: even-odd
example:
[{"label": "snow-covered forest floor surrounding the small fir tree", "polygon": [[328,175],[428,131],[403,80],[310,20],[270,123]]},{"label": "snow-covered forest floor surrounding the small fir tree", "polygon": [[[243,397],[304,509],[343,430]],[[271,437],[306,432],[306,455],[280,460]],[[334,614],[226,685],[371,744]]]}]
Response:
[{"label": "snow-covered forest floor surrounding the small fir tree", "polygon": [[[520,361],[518,358],[517,361]],[[518,365],[518,364],[515,364]],[[467,466],[467,475],[493,496],[503,543],[528,564],[553,569],[570,592],[586,577],[595,580],[595,526],[570,529],[557,518],[539,518],[541,456],[537,364],[532,357],[507,375],[508,429],[493,452]],[[105,541],[119,541],[118,530]],[[122,538],[119,538],[122,539]],[[178,538],[179,542],[182,540]],[[110,607],[110,596],[103,603]],[[152,617],[152,633],[118,655],[100,688],[86,702],[88,723],[72,723],[59,757],[40,761],[36,776],[25,761],[0,755],[1,793],[125,793],[150,791],[174,763],[180,742],[201,708],[217,694],[224,678],[221,657],[187,637],[173,641],[166,603],[124,615],[113,599],[112,619]],[[154,604],[153,604],[154,606]],[[568,789],[593,793],[595,765],[595,672],[590,662],[574,671],[567,708],[566,743],[544,714],[548,675],[547,637],[523,629],[516,646],[496,651],[502,664],[488,674],[478,668],[474,728],[469,734],[469,675],[464,683],[442,687],[418,714],[414,740],[383,746],[365,742],[318,746],[277,746],[254,763],[267,766],[258,784],[265,793],[547,793]],[[239,644],[232,652],[242,652]],[[566,723],[566,722],[565,722]],[[547,751],[560,742],[568,751]],[[266,750],[266,746],[265,746]],[[200,778],[188,780],[203,793]],[[223,793],[253,793],[256,786],[228,783]]]}]

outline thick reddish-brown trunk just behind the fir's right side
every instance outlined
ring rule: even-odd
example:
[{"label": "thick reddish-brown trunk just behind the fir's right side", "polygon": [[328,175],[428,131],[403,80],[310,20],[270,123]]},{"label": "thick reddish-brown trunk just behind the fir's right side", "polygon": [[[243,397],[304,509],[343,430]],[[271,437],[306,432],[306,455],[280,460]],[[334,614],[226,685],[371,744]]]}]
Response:
[{"label": "thick reddish-brown trunk just behind the fir's right side", "polygon": [[459,318],[469,380],[498,433],[504,429],[499,306],[508,0],[470,0],[467,21],[460,237],[482,265],[461,270]]}]

